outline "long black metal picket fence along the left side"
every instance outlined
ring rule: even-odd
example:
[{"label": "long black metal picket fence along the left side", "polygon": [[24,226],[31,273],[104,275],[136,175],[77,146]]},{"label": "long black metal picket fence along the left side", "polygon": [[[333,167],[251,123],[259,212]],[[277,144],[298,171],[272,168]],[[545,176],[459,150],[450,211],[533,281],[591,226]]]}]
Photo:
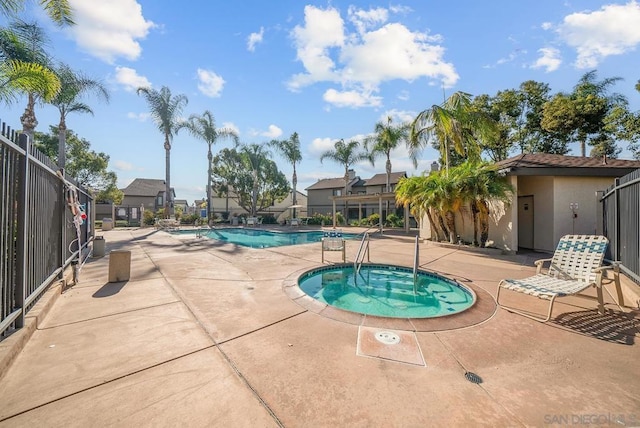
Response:
[{"label": "long black metal picket fence along the left side", "polygon": [[[26,135],[1,124],[0,339],[23,327],[49,286],[89,255],[91,221],[77,233],[57,171]],[[78,199],[91,219],[91,195],[78,188]]]}]

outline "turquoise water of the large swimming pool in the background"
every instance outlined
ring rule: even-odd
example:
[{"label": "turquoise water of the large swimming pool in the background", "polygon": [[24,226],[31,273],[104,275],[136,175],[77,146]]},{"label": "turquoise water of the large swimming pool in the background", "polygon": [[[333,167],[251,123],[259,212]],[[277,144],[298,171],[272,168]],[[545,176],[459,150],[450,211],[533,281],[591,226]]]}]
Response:
[{"label": "turquoise water of the large swimming pool in the background", "polygon": [[[198,233],[197,230],[181,230],[181,235]],[[298,231],[298,232],[277,232],[271,230],[260,229],[242,229],[242,228],[222,228],[209,229],[201,232],[203,236],[216,239],[218,241],[229,242],[231,244],[242,245],[250,248],[271,248],[282,247],[285,245],[309,244],[311,242],[320,242],[323,236],[322,231]],[[345,239],[353,238],[357,235],[345,233]]]}]

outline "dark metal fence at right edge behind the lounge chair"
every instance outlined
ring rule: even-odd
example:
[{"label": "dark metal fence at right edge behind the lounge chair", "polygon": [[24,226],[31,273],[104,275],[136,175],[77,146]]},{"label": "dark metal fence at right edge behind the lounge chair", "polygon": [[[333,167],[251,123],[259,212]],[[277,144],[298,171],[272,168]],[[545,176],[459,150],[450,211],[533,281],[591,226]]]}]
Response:
[{"label": "dark metal fence at right edge behind the lounge chair", "polygon": [[617,178],[601,199],[608,257],[640,284],[640,169]]}]

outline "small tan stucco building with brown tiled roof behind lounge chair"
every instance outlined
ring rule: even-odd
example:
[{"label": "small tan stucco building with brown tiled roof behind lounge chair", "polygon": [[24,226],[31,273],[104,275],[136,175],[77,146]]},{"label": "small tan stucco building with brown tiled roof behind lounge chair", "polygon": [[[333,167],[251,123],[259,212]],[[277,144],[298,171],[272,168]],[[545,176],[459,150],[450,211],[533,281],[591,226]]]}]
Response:
[{"label": "small tan stucco building with brown tiled roof behind lounge chair", "polygon": [[[640,168],[640,161],[530,153],[497,166],[514,193],[508,205],[491,204],[490,245],[508,253],[553,252],[563,235],[602,233],[602,191],[616,178]],[[471,242],[473,222],[459,220],[460,238]],[[426,219],[420,236],[433,238]]]}]

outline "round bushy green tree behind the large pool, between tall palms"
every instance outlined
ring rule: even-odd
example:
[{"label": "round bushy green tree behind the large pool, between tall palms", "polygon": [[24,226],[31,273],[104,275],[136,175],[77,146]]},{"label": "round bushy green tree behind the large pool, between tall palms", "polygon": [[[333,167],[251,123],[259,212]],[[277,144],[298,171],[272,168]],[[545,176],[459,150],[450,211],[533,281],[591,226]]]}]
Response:
[{"label": "round bushy green tree behind the large pool, between tall palms", "polygon": [[266,150],[242,145],[222,149],[213,159],[213,179],[218,197],[227,196],[252,215],[282,201],[291,188]]}]

